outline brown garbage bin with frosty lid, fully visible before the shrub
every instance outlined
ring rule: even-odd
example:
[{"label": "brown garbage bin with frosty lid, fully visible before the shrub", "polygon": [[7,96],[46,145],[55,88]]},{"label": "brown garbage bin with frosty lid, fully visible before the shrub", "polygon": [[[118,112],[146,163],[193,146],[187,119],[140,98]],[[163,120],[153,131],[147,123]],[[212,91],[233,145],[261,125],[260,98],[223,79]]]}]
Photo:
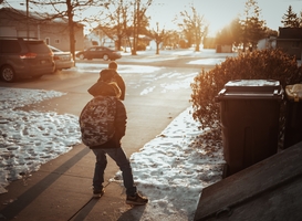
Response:
[{"label": "brown garbage bin with frosty lid, fully visible before the shrub", "polygon": [[216,98],[227,162],[223,178],[277,154],[283,98],[278,81],[230,81]]}]

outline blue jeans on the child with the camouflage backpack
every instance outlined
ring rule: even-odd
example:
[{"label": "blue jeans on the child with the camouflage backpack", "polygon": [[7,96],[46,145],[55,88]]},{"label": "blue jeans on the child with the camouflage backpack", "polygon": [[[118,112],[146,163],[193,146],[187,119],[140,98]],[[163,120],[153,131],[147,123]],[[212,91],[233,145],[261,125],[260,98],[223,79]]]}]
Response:
[{"label": "blue jeans on the child with the camouflage backpack", "polygon": [[124,187],[126,188],[127,196],[134,196],[136,193],[136,187],[134,186],[132,167],[129,160],[127,159],[122,147],[118,148],[95,148],[92,149],[96,157],[94,176],[93,176],[93,187],[94,189],[102,189],[104,182],[104,171],[107,166],[106,154],[116,162],[119,167]]}]

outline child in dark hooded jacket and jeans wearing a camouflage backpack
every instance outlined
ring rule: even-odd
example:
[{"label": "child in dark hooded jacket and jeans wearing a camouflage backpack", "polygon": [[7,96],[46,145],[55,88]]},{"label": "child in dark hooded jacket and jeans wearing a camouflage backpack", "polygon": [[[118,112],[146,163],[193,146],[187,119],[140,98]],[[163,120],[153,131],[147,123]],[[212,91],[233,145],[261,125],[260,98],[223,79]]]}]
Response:
[{"label": "child in dark hooded jacket and jeans wearing a camouflage backpack", "polygon": [[[103,70],[104,71],[104,70]],[[102,72],[103,72],[102,71]],[[110,70],[106,70],[103,72],[104,75],[110,75]],[[128,204],[146,204],[148,202],[148,199],[145,197],[142,197],[137,193],[136,187],[134,185],[133,180],[133,173],[132,173],[132,167],[129,164],[129,160],[127,159],[122,146],[121,146],[121,139],[125,135],[126,130],[126,109],[124,104],[118,99],[121,95],[121,90],[116,85],[116,83],[105,83],[102,82],[102,85],[100,86],[100,91],[96,93],[95,97],[84,107],[84,109],[81,113],[80,116],[80,125],[81,125],[81,131],[82,131],[82,140],[85,144],[85,141],[93,140],[94,145],[87,145],[92,151],[94,152],[96,157],[95,168],[94,168],[94,177],[93,177],[93,194],[94,197],[101,197],[104,193],[104,170],[107,166],[107,159],[106,154],[116,162],[116,165],[119,167],[124,186],[126,188],[126,203]],[[97,103],[97,102],[98,103]],[[98,105],[91,108],[90,104],[92,105]],[[103,106],[101,106],[103,105]],[[96,113],[100,114],[91,114],[88,112],[90,109],[100,109]],[[102,116],[101,116],[102,114]],[[108,120],[105,118],[107,117]],[[113,116],[113,117],[111,117]],[[90,122],[91,120],[91,122]],[[85,129],[83,126],[85,123],[86,125],[96,124],[97,120],[102,122],[102,126],[106,125],[108,128],[103,128],[100,126],[101,124],[97,124],[94,128],[90,130],[90,133],[85,133]],[[107,122],[104,124],[104,122]],[[101,134],[110,134],[108,136],[105,136],[107,140],[98,139],[97,137],[97,129],[101,129],[98,135]],[[113,133],[110,133],[113,131]],[[94,137],[93,137],[94,136]],[[104,136],[102,137],[104,138]]]}]

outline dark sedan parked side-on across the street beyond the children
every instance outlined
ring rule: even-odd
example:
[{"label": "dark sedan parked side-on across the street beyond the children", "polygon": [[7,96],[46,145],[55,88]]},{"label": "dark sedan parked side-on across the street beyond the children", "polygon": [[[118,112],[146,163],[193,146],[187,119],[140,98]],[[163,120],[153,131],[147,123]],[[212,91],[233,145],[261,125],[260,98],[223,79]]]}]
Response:
[{"label": "dark sedan parked side-on across the street beyond the children", "polygon": [[75,56],[82,60],[103,59],[105,61],[114,61],[122,57],[118,51],[106,46],[91,46],[87,50],[77,52]]}]

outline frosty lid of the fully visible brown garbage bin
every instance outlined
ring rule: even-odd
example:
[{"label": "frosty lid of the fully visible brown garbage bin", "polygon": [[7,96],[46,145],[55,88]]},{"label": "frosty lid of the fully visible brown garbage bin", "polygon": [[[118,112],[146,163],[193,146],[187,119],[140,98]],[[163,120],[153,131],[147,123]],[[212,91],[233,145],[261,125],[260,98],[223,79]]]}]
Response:
[{"label": "frosty lid of the fully visible brown garbage bin", "polygon": [[225,84],[218,99],[282,99],[283,90],[274,80],[236,80]]}]

